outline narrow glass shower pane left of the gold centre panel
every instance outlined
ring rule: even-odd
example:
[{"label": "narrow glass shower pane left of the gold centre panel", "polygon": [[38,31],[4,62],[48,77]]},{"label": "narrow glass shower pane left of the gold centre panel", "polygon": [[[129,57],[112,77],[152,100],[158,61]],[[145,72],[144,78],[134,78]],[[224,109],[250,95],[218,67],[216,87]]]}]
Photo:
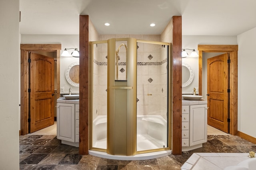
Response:
[{"label": "narrow glass shower pane left of the gold centre panel", "polygon": [[92,68],[92,80],[90,90],[92,92],[91,133],[92,143],[90,148],[94,150],[107,149],[107,41],[90,42],[90,67]]}]

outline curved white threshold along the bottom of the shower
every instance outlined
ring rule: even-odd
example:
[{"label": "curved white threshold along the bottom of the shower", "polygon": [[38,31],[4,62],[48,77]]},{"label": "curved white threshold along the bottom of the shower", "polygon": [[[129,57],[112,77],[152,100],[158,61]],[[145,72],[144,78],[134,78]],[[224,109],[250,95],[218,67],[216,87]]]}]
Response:
[{"label": "curved white threshold along the bottom of the shower", "polygon": [[136,154],[134,156],[111,155],[111,154],[108,154],[107,152],[100,152],[96,150],[89,150],[89,154],[93,156],[98,156],[100,158],[115,159],[115,160],[146,160],[146,159],[154,159],[154,158],[160,158],[163,156],[170,155],[172,154],[172,150],[163,150],[163,151],[157,151],[157,152]]}]

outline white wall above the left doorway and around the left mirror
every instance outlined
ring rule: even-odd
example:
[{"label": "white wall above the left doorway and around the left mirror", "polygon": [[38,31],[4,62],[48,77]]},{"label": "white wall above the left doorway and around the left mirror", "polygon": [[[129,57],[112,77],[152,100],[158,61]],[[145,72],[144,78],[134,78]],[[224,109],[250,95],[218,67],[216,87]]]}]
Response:
[{"label": "white wall above the left doorway and around the left mirror", "polygon": [[[21,35],[22,44],[61,44],[62,51],[65,48],[78,48],[79,51],[79,35]],[[68,50],[69,53],[72,50]],[[70,85],[65,77],[65,71],[69,64],[79,62],[79,58],[60,56],[60,87],[64,87],[64,93],[68,93],[68,89],[72,88],[72,93],[79,93],[79,87]]]}]

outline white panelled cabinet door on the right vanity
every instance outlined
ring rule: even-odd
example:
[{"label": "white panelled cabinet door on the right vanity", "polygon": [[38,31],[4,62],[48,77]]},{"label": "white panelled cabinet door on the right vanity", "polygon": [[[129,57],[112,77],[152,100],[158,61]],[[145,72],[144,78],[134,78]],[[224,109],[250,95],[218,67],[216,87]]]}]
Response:
[{"label": "white panelled cabinet door on the right vanity", "polygon": [[207,142],[206,104],[190,106],[189,145],[194,146]]}]

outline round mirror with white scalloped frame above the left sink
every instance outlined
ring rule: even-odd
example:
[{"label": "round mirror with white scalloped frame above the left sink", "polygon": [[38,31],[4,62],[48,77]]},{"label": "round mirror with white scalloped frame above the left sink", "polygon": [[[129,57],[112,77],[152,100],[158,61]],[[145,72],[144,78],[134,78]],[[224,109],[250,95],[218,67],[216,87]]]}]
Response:
[{"label": "round mirror with white scalloped frame above the left sink", "polygon": [[79,62],[71,63],[66,69],[65,76],[70,85],[79,87]]}]

